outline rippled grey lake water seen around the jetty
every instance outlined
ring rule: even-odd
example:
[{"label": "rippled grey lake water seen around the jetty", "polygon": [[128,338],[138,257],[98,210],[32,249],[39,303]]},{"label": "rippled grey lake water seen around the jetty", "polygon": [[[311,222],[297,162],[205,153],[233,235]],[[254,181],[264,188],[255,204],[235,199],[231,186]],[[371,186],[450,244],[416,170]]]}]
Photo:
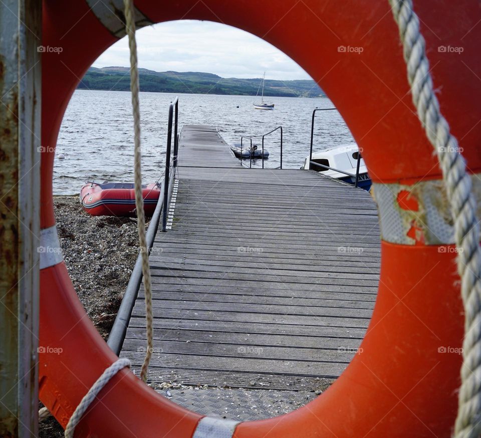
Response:
[{"label": "rippled grey lake water seen around the jetty", "polygon": [[[174,94],[140,93],[143,182],[153,182],[165,165],[168,105]],[[216,125],[228,143],[282,125],[283,167],[299,168],[309,154],[312,110],[331,108],[327,98],[269,98],[274,111],[255,110],[253,96],[179,95],[179,125]],[[257,99],[258,100],[258,99]],[[236,108],[238,106],[238,108]],[[54,165],[54,193],[73,194],[86,180],[133,181],[133,128],[130,93],[77,90],[60,129]],[[353,138],[337,111],[316,114],[314,150]],[[279,132],[266,137],[265,167],[279,166]],[[59,154],[64,159],[58,159]],[[234,159],[234,158],[232,158]],[[253,166],[260,166],[254,162]]]}]

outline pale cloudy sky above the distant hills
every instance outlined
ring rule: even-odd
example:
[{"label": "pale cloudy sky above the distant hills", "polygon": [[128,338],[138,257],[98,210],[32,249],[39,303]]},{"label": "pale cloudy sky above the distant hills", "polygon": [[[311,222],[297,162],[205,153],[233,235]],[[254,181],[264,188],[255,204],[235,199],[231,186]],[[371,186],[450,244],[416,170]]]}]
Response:
[{"label": "pale cloudy sky above the distant hills", "polygon": [[[157,72],[214,73],[222,78],[311,79],[291,58],[266,41],[212,22],[182,20],[137,31],[139,67]],[[115,43],[94,67],[128,67],[127,37]]]}]

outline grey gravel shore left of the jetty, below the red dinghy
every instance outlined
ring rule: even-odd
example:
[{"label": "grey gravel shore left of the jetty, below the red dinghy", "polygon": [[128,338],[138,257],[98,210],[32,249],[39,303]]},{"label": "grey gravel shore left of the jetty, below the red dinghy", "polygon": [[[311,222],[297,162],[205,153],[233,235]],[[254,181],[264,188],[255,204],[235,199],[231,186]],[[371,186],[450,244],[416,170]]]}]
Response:
[{"label": "grey gravel shore left of the jetty, below the red dinghy", "polygon": [[54,202],[70,278],[90,319],[107,339],[138,255],[136,219],[91,216],[78,196],[56,196]]}]

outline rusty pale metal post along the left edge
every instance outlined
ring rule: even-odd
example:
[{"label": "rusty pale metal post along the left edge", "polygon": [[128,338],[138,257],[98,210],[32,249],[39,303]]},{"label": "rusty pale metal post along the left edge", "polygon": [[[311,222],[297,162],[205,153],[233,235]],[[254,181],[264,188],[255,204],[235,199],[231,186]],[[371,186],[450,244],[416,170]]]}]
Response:
[{"label": "rusty pale metal post along the left edge", "polygon": [[42,2],[0,2],[0,436],[38,435]]}]

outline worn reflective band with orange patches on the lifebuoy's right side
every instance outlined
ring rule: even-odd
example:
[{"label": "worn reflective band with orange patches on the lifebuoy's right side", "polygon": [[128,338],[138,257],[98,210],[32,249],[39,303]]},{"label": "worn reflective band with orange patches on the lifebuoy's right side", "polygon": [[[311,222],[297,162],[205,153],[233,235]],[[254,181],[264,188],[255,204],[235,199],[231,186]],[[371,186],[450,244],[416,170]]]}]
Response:
[{"label": "worn reflective band with orange patches on the lifebuoy's right side", "polygon": [[[471,181],[473,193],[480,199],[481,179],[473,174]],[[412,185],[373,183],[373,193],[382,240],[400,245],[454,244],[453,221],[442,180]]]}]

